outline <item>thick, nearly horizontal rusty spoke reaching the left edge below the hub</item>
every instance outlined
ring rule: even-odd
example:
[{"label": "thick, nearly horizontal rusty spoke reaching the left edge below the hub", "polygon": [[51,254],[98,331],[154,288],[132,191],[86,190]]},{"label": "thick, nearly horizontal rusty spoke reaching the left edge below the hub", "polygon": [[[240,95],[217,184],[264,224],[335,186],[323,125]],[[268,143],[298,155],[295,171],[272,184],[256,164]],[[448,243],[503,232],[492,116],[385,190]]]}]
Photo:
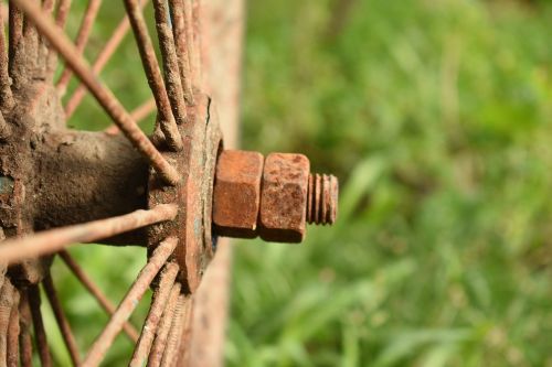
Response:
[{"label": "thick, nearly horizontal rusty spoke reaching the left edge below the hub", "polygon": [[149,211],[88,222],[85,224],[45,230],[29,237],[6,240],[0,247],[0,259],[8,263],[53,253],[75,242],[89,242],[112,237],[155,223],[171,220],[177,206],[162,204]]}]

